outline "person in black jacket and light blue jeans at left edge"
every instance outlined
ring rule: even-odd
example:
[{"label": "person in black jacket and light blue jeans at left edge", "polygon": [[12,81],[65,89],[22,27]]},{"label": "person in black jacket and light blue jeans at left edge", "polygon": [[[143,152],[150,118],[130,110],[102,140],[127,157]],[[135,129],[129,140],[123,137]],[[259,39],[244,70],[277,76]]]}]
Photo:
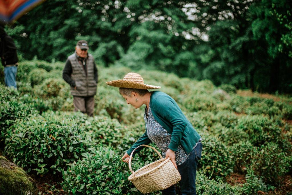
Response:
[{"label": "person in black jacket and light blue jeans at left edge", "polygon": [[16,73],[18,57],[16,46],[12,38],[5,32],[4,26],[2,25],[0,25],[0,56],[1,63],[4,66],[5,85],[17,89]]}]

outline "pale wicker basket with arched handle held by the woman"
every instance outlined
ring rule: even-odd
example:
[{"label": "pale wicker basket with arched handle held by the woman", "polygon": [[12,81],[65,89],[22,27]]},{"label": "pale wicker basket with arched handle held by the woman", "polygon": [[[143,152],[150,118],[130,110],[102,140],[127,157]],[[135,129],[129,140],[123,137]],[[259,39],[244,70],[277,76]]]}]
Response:
[{"label": "pale wicker basket with arched handle held by the woman", "polygon": [[[154,151],[159,155],[161,158],[153,163],[145,165],[144,167],[133,171],[131,168],[131,158],[133,156],[132,151],[129,161],[129,169],[131,171],[131,175],[128,178],[135,187],[142,192],[143,194],[150,193],[156,190],[163,190],[172,185],[176,184],[180,181],[180,173],[175,168],[173,163],[171,162],[170,158],[162,158],[161,154],[157,149],[153,148],[152,146],[148,145],[140,145],[154,149]],[[138,147],[140,147],[138,146]],[[137,148],[138,148],[137,147]],[[135,148],[135,149],[137,149]]]}]

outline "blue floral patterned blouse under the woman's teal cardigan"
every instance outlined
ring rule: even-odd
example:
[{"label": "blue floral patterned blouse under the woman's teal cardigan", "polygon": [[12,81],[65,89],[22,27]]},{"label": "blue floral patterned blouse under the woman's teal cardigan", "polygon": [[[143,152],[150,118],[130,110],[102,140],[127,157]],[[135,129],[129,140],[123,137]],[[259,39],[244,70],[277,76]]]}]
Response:
[{"label": "blue floral patterned blouse under the woman's teal cardigan", "polygon": [[[147,107],[145,108],[144,120],[146,123],[147,135],[151,141],[153,141],[156,146],[161,150],[162,157],[165,158],[166,151],[168,150],[168,145],[171,140],[171,134],[167,132],[155,119],[151,111],[149,104],[149,111],[147,112]],[[201,139],[199,140],[201,141]],[[194,146],[194,148],[197,144]],[[177,165],[183,164],[189,154],[186,154],[181,145],[178,146],[178,150],[175,151],[175,163]]]}]

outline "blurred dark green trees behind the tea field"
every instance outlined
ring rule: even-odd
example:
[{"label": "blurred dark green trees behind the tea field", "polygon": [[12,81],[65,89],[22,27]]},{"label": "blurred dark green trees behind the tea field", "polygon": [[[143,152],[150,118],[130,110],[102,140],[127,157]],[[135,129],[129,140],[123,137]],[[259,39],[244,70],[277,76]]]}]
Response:
[{"label": "blurred dark green trees behind the tea field", "polygon": [[86,39],[99,67],[292,92],[290,0],[54,0],[7,28],[22,59],[65,61]]}]

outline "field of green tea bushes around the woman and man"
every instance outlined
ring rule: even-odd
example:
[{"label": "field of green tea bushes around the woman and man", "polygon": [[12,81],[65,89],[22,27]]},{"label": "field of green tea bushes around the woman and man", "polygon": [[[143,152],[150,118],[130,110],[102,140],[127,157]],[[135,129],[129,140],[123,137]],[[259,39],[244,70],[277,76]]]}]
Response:
[{"label": "field of green tea bushes around the woman and man", "polygon": [[[58,182],[73,194],[139,194],[127,180],[130,173],[120,158],[145,132],[145,107],[127,105],[117,88],[105,84],[132,70],[100,68],[95,116],[88,117],[72,112],[63,66],[22,61],[18,74],[27,77],[20,77],[18,91],[0,85],[4,155],[29,174],[62,175]],[[32,85],[29,75],[40,68],[46,78],[35,79]],[[216,87],[210,80],[157,70],[138,73],[147,84],[160,85],[160,91],[173,96],[203,138],[198,194],[257,194],[279,188],[291,174],[292,127],[286,122],[291,117],[291,97],[240,96],[233,86]],[[132,167],[137,170],[158,158],[145,148],[135,155]],[[232,173],[241,174],[246,182],[227,184]]]}]

